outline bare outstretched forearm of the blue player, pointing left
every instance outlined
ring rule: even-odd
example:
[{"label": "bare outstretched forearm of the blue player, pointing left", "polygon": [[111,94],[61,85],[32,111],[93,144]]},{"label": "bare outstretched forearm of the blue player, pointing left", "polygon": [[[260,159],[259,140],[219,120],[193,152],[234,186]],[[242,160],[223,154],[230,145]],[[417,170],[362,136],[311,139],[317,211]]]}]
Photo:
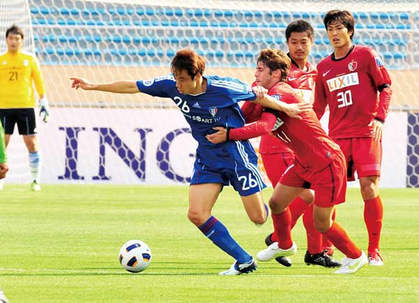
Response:
[{"label": "bare outstretched forearm of the blue player, pointing left", "polygon": [[136,82],[131,80],[120,80],[103,84],[94,84],[80,77],[71,77],[70,80],[73,80],[73,83],[71,83],[71,87],[73,89],[84,89],[87,91],[108,91],[110,93],[119,94],[135,94],[140,92]]}]

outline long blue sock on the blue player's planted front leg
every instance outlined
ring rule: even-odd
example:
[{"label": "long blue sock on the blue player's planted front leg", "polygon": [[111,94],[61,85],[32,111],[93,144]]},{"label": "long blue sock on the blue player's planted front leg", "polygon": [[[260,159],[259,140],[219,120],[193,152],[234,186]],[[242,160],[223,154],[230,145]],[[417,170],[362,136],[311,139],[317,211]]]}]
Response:
[{"label": "long blue sock on the blue player's planted front leg", "polygon": [[249,263],[252,257],[235,242],[230,236],[226,226],[218,221],[214,216],[210,216],[203,225],[198,227],[203,234],[209,238],[216,246],[235,258],[238,263]]}]

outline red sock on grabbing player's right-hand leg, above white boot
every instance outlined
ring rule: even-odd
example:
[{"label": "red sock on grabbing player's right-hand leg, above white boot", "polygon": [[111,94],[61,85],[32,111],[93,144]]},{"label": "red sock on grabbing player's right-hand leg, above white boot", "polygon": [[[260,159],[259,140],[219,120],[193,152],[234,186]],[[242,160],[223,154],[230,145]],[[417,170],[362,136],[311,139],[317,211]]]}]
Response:
[{"label": "red sock on grabbing player's right-hand leg, above white boot", "polygon": [[346,231],[337,222],[333,221],[332,226],[328,231],[323,232],[323,235],[326,235],[346,257],[351,259],[360,258],[361,250],[349,239]]}]

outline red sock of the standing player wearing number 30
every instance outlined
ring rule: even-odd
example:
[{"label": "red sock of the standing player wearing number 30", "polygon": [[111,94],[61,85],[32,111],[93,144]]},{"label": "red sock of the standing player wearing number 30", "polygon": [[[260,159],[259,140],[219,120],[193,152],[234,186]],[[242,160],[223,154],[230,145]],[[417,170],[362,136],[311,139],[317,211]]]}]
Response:
[{"label": "red sock of the standing player wearing number 30", "polygon": [[364,221],[368,230],[368,251],[379,248],[381,225],[383,222],[383,203],[380,196],[371,200],[365,200]]}]

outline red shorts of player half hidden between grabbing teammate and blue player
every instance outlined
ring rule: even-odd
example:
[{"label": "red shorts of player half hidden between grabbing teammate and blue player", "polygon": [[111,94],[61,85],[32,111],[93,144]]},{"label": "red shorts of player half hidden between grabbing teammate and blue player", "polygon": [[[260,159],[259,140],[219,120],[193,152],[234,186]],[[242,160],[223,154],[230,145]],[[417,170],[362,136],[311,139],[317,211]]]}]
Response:
[{"label": "red shorts of player half hidden between grabbing teammate and blue player", "polygon": [[286,152],[279,154],[260,154],[262,156],[263,167],[272,186],[275,187],[281,179],[282,174],[289,165],[294,163],[294,153]]}]

